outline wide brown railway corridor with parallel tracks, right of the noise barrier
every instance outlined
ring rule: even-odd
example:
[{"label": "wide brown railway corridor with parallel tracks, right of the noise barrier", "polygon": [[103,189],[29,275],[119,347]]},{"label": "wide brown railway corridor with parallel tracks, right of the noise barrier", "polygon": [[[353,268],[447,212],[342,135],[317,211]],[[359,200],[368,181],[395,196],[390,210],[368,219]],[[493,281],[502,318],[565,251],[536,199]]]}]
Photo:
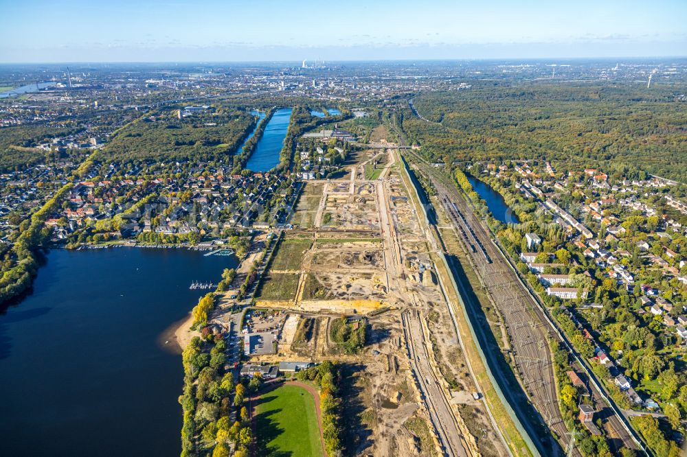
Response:
[{"label": "wide brown railway corridor with parallel tracks, right of the noise barrier", "polygon": [[[397,124],[391,127],[392,130],[396,131],[398,134],[398,143],[405,146],[406,142],[401,128],[399,128]],[[609,400],[607,394],[603,392],[603,388],[600,386],[598,380],[592,379],[594,375],[589,373],[586,366],[581,366],[583,362],[580,362],[579,355],[574,351],[574,347],[572,347],[570,342],[565,340],[565,337],[561,335],[559,329],[556,328],[555,324],[552,323],[548,316],[545,316],[543,310],[529,294],[530,291],[526,288],[526,285],[519,281],[517,274],[511,269],[510,263],[505,259],[502,251],[493,243],[491,234],[486,232],[482,225],[482,221],[475,217],[472,209],[468,207],[468,203],[460,195],[455,185],[451,183],[447,176],[427,166],[427,163],[425,163],[422,158],[418,157],[417,154],[414,154],[414,152],[410,152],[410,154],[416,158],[421,170],[429,176],[433,185],[437,187],[440,202],[442,202],[442,206],[447,210],[449,218],[454,221],[453,226],[457,234],[460,232],[459,239],[462,239],[462,244],[466,249],[466,253],[469,256],[475,272],[482,279],[484,288],[489,290],[491,286],[490,295],[495,299],[499,312],[502,312],[502,307],[506,308],[506,313],[502,312],[502,318],[504,324],[506,324],[506,319],[508,319],[509,324],[511,324],[506,325],[506,332],[509,338],[515,340],[517,346],[523,349],[519,353],[514,354],[516,368],[521,375],[521,382],[525,385],[534,407],[540,412],[542,417],[545,418],[549,427],[554,430],[556,434],[559,434],[561,442],[566,446],[570,445],[570,435],[561,419],[557,405],[554,384],[555,379],[550,359],[551,354],[550,351],[548,351],[548,347],[541,344],[540,339],[539,342],[535,344],[541,349],[546,348],[545,354],[547,357],[544,359],[531,357],[531,346],[535,341],[532,339],[532,331],[534,331],[534,329],[538,329],[537,333],[545,335],[546,338],[552,338],[554,341],[563,342],[567,350],[571,352],[574,359],[576,359],[572,364],[573,367],[576,370],[586,372],[590,377],[588,385],[591,388],[588,390],[591,394],[594,409],[600,412],[598,415],[602,417],[603,427],[607,431],[607,434],[613,437],[613,440],[609,443],[611,444],[611,448],[615,449],[616,452],[620,452],[620,448],[628,447],[635,450],[639,449],[640,452],[643,450],[645,454],[651,455],[651,452],[648,451],[644,443],[641,443],[636,432],[631,430],[631,426],[627,419],[622,416],[622,412]],[[447,180],[449,183],[446,183]],[[443,192],[440,192],[440,189],[442,189]],[[455,202],[451,200],[458,202],[458,204],[463,207],[464,211],[458,213],[458,211],[460,211],[458,204],[455,204]],[[456,218],[456,216],[458,217]],[[462,224],[458,220],[462,221]],[[470,229],[466,231],[466,227],[470,227]],[[467,233],[470,233],[471,237],[469,237]],[[438,226],[436,227],[436,234],[443,244]],[[482,257],[484,257],[483,261],[480,261],[480,255],[477,253],[477,248],[475,248],[475,244],[471,242],[471,239],[476,241],[480,238],[482,243],[477,246],[484,248],[484,251],[482,251]],[[488,248],[486,246],[488,246]],[[493,252],[493,256],[489,254],[490,251]],[[491,268],[487,268],[487,264],[491,264]],[[508,293],[499,294],[501,291],[506,291]],[[496,292],[496,294],[493,292]],[[508,303],[511,305],[508,305]],[[518,303],[520,305],[519,310],[513,309],[513,303]],[[526,311],[526,314],[523,314],[523,311]],[[528,335],[519,335],[517,332],[519,329],[529,329]],[[515,335],[513,333],[514,330],[516,331]],[[527,344],[530,345],[529,348]],[[523,377],[523,372],[525,375],[529,375],[527,376],[529,379]],[[532,376],[537,372],[541,375],[546,373],[545,377],[539,377],[539,379],[542,380],[541,384],[537,383],[536,376]],[[534,395],[530,392],[531,388],[535,390]],[[577,449],[573,449],[573,451],[576,455],[580,455]]]}]

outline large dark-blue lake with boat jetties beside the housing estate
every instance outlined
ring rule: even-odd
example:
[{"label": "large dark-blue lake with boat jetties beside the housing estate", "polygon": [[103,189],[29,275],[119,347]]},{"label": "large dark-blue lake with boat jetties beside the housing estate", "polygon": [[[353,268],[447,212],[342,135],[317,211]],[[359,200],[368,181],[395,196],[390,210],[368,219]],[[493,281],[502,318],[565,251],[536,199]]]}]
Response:
[{"label": "large dark-blue lake with boat jetties beside the housing estate", "polygon": [[160,341],[232,257],[53,250],[0,315],[0,455],[176,456],[181,356]]}]

